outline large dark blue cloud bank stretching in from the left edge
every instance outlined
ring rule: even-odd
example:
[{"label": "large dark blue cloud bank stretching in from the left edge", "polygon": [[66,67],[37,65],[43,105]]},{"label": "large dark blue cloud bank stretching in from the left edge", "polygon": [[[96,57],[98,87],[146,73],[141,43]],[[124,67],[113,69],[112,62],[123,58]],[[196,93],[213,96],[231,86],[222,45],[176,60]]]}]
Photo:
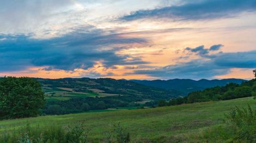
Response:
[{"label": "large dark blue cloud bank stretching in from the left edge", "polygon": [[0,35],[0,71],[25,70],[30,66],[50,67],[46,70],[87,69],[93,67],[95,61],[102,61],[106,67],[143,64],[147,62],[129,55],[117,55],[116,52],[119,50],[117,46],[146,42],[143,38],[106,35],[105,31],[95,28],[84,28],[48,39],[35,39],[32,35]]}]

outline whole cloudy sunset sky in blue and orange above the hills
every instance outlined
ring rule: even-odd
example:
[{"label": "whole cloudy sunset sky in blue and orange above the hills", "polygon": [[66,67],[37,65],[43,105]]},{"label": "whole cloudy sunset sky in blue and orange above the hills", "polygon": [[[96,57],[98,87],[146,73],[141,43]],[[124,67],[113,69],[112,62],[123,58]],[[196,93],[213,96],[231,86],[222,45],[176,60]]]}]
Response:
[{"label": "whole cloudy sunset sky in blue and orange above the hills", "polygon": [[0,76],[252,79],[256,0],[1,0]]}]

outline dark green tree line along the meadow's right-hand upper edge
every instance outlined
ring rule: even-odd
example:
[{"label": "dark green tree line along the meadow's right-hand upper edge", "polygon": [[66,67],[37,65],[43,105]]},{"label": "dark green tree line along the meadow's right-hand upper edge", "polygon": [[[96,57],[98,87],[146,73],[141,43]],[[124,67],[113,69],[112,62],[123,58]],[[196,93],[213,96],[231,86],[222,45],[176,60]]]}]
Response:
[{"label": "dark green tree line along the meadow's right-hand upper edge", "polygon": [[[172,99],[166,105],[180,105],[205,101],[230,100],[256,95],[256,79],[243,82],[241,85],[229,83],[223,87],[213,87],[202,91],[192,92],[185,98]],[[161,103],[162,105],[163,103]]]}]

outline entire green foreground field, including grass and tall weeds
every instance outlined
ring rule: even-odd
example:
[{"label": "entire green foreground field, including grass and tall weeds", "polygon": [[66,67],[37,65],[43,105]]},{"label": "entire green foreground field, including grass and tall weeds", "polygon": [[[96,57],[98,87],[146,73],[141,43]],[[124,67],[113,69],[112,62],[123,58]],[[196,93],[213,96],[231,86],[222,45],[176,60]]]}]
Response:
[{"label": "entire green foreground field, including grass and tall weeds", "polygon": [[[253,114],[247,104],[251,105]],[[242,108],[246,108],[246,112]],[[61,138],[65,140],[79,137],[81,141],[89,142],[108,142],[110,137],[112,142],[118,142],[118,138],[130,138],[131,142],[250,142],[255,139],[255,108],[256,100],[250,97],[132,111],[5,120],[0,121],[0,142],[7,137],[20,141],[30,139],[27,131],[35,139],[44,137],[50,141],[62,134]],[[117,132],[119,122],[121,133],[120,130]],[[28,124],[30,129],[24,131]],[[54,131],[50,127],[54,127]],[[22,128],[23,132],[20,132]],[[77,128],[86,132],[74,137],[73,131]]]}]

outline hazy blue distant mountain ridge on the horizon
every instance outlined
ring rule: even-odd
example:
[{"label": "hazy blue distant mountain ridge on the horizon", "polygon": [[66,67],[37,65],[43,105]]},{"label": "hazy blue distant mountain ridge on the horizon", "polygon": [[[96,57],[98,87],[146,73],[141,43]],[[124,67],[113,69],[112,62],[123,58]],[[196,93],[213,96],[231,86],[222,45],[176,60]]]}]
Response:
[{"label": "hazy blue distant mountain ridge on the horizon", "polygon": [[190,92],[197,90],[203,90],[205,88],[225,86],[227,83],[241,84],[242,79],[223,79],[223,80],[191,80],[191,79],[173,79],[173,80],[129,80],[142,85],[151,87],[158,87],[162,89],[172,89],[181,92],[183,95],[187,95]]}]

